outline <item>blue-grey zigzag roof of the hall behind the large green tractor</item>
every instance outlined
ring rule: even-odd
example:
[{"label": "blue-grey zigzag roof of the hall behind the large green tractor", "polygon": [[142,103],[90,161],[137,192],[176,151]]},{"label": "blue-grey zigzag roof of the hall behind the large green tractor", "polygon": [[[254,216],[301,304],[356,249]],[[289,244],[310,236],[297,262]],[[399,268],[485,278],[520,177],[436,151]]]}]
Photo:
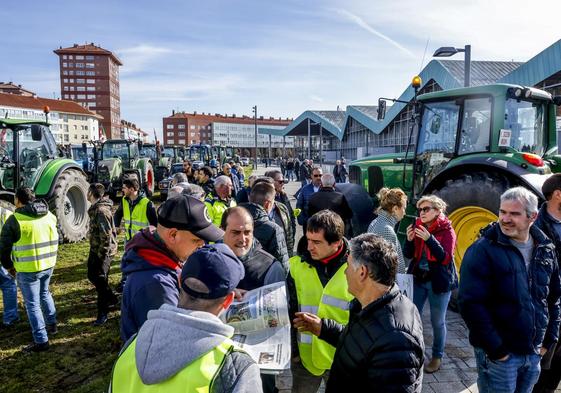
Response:
[{"label": "blue-grey zigzag roof of the hall behind the large green tractor", "polygon": [[[561,40],[555,42],[525,63],[513,61],[472,61],[471,85],[480,86],[491,83],[513,83],[524,86],[536,86],[548,78],[561,74]],[[419,74],[424,87],[434,81],[443,90],[455,89],[464,85],[463,60],[432,60]],[[421,89],[422,89],[421,87]],[[414,90],[408,85],[398,97],[401,101],[411,101]],[[273,135],[307,135],[307,119],[313,123],[320,121],[324,130],[329,131],[339,140],[343,139],[348,119],[352,117],[372,132],[381,133],[399,113],[405,104],[395,103],[387,108],[384,120],[376,120],[375,106],[347,106],[342,111],[306,111],[290,123],[284,130],[275,130]],[[330,121],[327,114],[337,114],[337,120]],[[318,135],[318,127],[311,127],[312,135]],[[264,130],[265,133],[265,130]]]}]

